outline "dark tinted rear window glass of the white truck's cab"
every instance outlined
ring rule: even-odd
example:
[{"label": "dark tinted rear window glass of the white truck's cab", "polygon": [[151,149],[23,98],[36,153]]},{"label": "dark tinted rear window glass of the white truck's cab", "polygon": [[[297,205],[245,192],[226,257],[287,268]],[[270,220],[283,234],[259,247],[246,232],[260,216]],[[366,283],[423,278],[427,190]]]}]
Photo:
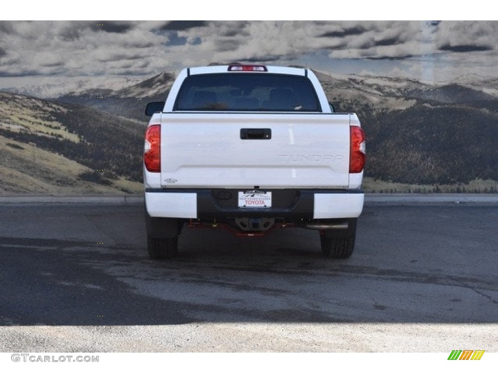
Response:
[{"label": "dark tinted rear window glass of the white truck's cab", "polygon": [[321,111],[306,77],[248,73],[191,75],[174,110]]}]

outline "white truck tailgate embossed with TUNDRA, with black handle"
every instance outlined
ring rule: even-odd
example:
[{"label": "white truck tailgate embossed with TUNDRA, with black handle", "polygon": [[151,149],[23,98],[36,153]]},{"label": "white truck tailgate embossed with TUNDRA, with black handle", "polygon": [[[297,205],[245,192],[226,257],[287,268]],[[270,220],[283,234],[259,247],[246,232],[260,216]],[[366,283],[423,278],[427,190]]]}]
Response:
[{"label": "white truck tailgate embossed with TUNDRA, with black handle", "polygon": [[163,113],[161,186],[347,188],[349,125],[336,113]]}]

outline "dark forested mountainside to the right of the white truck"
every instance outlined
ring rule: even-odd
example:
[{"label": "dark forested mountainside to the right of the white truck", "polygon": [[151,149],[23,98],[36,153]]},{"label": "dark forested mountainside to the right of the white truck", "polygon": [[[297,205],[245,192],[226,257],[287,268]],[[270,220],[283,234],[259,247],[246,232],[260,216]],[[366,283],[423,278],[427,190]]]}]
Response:
[{"label": "dark forested mountainside to the right of the white truck", "polygon": [[366,177],[435,186],[498,181],[496,80],[480,82],[492,95],[469,84],[319,77],[336,109],[362,121]]}]

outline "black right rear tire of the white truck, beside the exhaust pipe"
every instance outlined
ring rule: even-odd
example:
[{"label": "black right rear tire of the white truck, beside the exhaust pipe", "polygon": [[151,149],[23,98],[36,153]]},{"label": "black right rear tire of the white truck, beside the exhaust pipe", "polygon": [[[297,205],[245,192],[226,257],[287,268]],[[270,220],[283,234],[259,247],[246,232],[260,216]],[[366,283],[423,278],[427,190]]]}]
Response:
[{"label": "black right rear tire of the white truck, beside the exhaust pipe", "polygon": [[356,241],[356,222],[351,219],[347,230],[325,230],[320,232],[322,253],[327,258],[349,258],[353,254]]}]

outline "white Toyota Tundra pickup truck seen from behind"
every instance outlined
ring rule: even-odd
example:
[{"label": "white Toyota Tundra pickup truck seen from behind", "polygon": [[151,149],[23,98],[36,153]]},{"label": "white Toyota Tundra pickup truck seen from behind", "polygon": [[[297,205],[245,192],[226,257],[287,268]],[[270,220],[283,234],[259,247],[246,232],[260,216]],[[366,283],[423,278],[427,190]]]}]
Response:
[{"label": "white Toyota Tundra pickup truck seen from behind", "polygon": [[308,69],[263,65],[184,69],[165,102],[150,102],[144,146],[150,258],[178,254],[184,225],[260,236],[320,232],[326,257],[353,253],[365,134],[335,113]]}]

